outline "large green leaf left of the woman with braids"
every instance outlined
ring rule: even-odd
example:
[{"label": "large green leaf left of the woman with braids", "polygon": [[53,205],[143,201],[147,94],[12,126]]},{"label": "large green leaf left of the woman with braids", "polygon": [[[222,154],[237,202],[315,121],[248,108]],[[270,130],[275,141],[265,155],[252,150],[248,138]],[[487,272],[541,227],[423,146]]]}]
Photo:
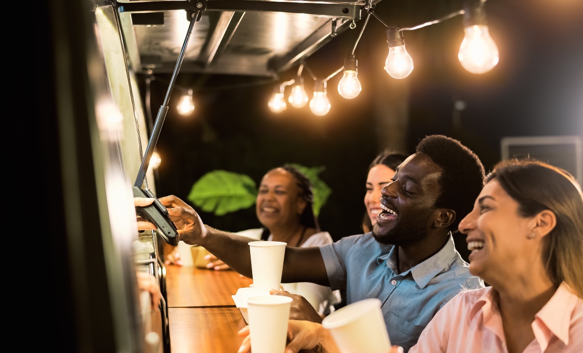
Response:
[{"label": "large green leaf left of the woman with braids", "polygon": [[213,170],[192,185],[188,200],[202,211],[223,216],[254,205],[257,186],[245,174]]}]

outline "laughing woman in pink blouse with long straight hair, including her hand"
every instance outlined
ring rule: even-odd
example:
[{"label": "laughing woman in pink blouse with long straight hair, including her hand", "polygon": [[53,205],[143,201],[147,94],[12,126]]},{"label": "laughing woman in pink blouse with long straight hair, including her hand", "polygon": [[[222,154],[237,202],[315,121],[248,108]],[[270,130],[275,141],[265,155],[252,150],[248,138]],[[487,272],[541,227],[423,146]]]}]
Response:
[{"label": "laughing woman in pink blouse with long straight hair, including her hand", "polygon": [[[583,193],[573,176],[500,162],[459,230],[470,273],[490,286],[449,300],[410,353],[583,352]],[[286,353],[339,352],[320,324],[290,320],[288,332]]]}]

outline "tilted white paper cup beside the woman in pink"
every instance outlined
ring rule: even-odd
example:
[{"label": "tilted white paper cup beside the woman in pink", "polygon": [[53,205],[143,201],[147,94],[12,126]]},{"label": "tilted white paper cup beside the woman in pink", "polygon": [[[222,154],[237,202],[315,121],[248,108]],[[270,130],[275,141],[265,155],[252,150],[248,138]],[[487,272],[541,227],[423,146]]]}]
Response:
[{"label": "tilted white paper cup beside the woman in pink", "polygon": [[382,317],[381,300],[364,299],[341,307],[322,320],[341,353],[387,353],[391,340]]}]

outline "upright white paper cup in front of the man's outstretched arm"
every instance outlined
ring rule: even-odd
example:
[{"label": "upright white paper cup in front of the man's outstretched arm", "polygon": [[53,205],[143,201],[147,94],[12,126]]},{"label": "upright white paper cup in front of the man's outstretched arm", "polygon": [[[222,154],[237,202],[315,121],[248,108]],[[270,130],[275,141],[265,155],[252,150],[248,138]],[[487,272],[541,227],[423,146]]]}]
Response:
[{"label": "upright white paper cup in front of the man's outstretched arm", "polygon": [[283,242],[264,242],[262,240],[249,243],[254,288],[267,295],[269,295],[269,289],[279,289],[286,245],[287,243]]}]

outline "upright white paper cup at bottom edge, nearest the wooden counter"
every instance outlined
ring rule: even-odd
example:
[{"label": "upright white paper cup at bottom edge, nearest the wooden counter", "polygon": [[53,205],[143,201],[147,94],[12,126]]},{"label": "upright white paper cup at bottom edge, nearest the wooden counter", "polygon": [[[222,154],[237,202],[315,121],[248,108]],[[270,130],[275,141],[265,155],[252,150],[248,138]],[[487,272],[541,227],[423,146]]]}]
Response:
[{"label": "upright white paper cup at bottom edge, nearest the wooden counter", "polygon": [[251,296],[247,299],[253,353],[285,352],[291,300],[283,295]]}]

